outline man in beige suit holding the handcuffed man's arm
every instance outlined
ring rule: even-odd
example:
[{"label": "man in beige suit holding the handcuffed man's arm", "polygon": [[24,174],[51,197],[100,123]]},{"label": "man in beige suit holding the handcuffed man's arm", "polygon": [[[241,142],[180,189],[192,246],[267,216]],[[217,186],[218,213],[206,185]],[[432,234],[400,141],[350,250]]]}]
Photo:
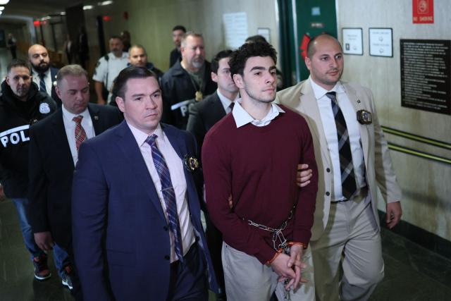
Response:
[{"label": "man in beige suit holding the handcuffed man's arm", "polygon": [[376,186],[387,202],[388,228],[400,221],[401,191],[371,91],[340,81],[338,40],[326,34],[312,39],[305,63],[309,79],[279,92],[278,102],[306,118],[314,139],[316,300],[367,300],[383,278]]}]

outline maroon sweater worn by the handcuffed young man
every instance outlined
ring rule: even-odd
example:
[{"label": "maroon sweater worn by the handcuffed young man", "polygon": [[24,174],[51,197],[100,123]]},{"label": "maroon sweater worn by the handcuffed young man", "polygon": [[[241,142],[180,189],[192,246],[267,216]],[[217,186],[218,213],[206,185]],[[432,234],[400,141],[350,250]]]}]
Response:
[{"label": "maroon sweater worn by the handcuffed young man", "polygon": [[[248,123],[237,128],[228,114],[207,133],[202,147],[202,166],[209,216],[228,245],[257,257],[264,264],[274,254],[272,233],[250,226],[247,220],[279,228],[294,217],[283,231],[288,241],[307,245],[311,237],[318,171],[306,121],[281,106],[269,125]],[[296,185],[297,164],[309,164],[311,183]],[[228,197],[233,196],[233,209]]]}]

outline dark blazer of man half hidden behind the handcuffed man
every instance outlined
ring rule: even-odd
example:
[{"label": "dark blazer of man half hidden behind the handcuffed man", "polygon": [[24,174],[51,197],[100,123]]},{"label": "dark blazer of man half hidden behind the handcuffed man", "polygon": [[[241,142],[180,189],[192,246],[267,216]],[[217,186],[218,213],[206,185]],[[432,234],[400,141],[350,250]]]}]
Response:
[{"label": "dark blazer of man half hidden behind the handcuffed man", "polygon": [[197,145],[199,145],[200,150],[204,144],[206,132],[208,132],[215,123],[220,121],[221,118],[226,116],[226,111],[224,111],[223,104],[221,103],[217,92],[209,95],[202,100],[202,102],[190,106],[189,111],[190,116],[188,118],[186,130],[196,137]]}]

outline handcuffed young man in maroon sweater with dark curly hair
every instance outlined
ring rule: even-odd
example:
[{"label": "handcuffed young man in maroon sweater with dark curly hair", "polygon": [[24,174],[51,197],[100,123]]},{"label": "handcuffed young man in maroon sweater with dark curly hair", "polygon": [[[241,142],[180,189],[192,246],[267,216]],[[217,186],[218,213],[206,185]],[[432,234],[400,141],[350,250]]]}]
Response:
[{"label": "handcuffed young man in maroon sweater with dark curly hair", "polygon": [[[270,44],[242,45],[229,65],[242,98],[202,148],[206,204],[223,233],[227,298],[269,300],[276,291],[279,300],[314,300],[308,244],[318,173],[309,128],[302,116],[272,103],[277,78]],[[300,163],[313,171],[304,188],[296,185]]]}]

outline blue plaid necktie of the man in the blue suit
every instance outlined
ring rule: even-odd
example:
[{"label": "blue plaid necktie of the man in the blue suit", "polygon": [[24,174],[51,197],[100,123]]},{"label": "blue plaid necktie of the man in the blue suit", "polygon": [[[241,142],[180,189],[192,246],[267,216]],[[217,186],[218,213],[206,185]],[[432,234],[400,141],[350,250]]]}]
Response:
[{"label": "blue plaid necktie of the man in the blue suit", "polygon": [[156,137],[158,136],[153,134],[147,137],[146,142],[152,149],[152,160],[154,161],[156,172],[158,173],[158,176],[160,178],[161,193],[163,194],[164,203],[166,204],[166,213],[168,214],[169,228],[174,235],[175,254],[177,255],[180,262],[183,262],[182,233],[180,231],[180,223],[178,221],[175,192],[171,181],[171,175],[169,173],[168,166],[166,165],[166,161],[160,150],[156,146]]}]

